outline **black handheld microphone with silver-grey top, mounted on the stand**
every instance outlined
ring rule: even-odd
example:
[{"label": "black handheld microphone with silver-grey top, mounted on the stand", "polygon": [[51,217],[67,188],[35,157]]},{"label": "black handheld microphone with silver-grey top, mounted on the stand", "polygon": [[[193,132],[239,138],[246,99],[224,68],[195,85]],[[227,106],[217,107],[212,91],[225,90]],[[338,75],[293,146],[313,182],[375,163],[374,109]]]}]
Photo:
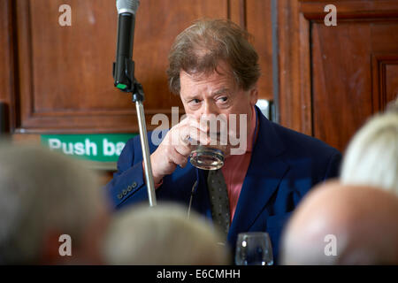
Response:
[{"label": "black handheld microphone with silver-grey top, mounted on the stand", "polygon": [[139,4],[139,0],[116,0],[119,19],[113,79],[115,87],[124,92],[134,91],[134,61],[132,57],[135,11],[137,11]]}]

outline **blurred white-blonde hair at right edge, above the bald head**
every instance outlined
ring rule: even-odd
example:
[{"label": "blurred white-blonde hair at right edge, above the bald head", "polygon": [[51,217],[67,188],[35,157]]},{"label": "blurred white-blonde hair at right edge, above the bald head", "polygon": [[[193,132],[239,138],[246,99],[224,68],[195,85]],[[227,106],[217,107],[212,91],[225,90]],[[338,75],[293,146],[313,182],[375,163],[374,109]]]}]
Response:
[{"label": "blurred white-blonde hair at right edge, above the bald head", "polygon": [[373,116],[348,145],[341,182],[369,185],[398,195],[398,99]]}]

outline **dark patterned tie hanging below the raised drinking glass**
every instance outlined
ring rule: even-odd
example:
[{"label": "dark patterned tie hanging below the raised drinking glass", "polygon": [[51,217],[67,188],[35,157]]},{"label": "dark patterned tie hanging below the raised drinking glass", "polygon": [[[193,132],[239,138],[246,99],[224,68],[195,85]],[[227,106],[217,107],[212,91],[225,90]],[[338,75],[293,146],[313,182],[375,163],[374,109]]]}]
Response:
[{"label": "dark patterned tie hanging below the raised drinking glass", "polygon": [[228,192],[223,172],[220,169],[210,170],[207,176],[207,187],[209,189],[211,215],[213,222],[224,233],[225,240],[230,226],[230,212]]}]

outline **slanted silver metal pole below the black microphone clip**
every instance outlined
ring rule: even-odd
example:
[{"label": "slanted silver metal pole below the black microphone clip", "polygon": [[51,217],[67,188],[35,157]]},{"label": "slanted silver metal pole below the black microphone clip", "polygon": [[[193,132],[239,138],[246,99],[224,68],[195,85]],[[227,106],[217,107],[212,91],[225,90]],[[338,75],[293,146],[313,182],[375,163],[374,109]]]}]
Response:
[{"label": "slanted silver metal pole below the black microphone clip", "polygon": [[144,115],[142,101],[138,100],[135,102],[135,109],[137,110],[138,126],[140,127],[142,157],[145,167],[145,180],[147,182],[149,206],[155,206],[157,205],[157,198],[155,195],[155,185],[152,175],[152,165],[150,164],[147,126],[145,124],[145,115]]}]

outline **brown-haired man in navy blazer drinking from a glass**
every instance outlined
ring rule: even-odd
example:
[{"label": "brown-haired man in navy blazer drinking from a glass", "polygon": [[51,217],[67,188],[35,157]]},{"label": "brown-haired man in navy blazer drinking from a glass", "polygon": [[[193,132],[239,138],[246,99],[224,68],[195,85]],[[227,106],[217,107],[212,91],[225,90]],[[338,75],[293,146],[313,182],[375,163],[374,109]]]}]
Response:
[{"label": "brown-haired man in navy blazer drinking from a glass", "polygon": [[[182,31],[172,44],[167,74],[187,118],[160,144],[151,139],[158,133],[149,134],[157,199],[212,219],[233,248],[238,233],[268,232],[278,262],[279,234],[289,213],[310,187],[337,176],[341,154],[264,117],[256,107],[258,55],[249,34],[230,20],[197,20]],[[211,116],[239,121],[227,127],[224,166],[209,172],[188,160],[195,144],[214,142],[203,123]],[[126,143],[119,171],[105,187],[115,208],[148,200],[142,167],[137,137]]]}]

